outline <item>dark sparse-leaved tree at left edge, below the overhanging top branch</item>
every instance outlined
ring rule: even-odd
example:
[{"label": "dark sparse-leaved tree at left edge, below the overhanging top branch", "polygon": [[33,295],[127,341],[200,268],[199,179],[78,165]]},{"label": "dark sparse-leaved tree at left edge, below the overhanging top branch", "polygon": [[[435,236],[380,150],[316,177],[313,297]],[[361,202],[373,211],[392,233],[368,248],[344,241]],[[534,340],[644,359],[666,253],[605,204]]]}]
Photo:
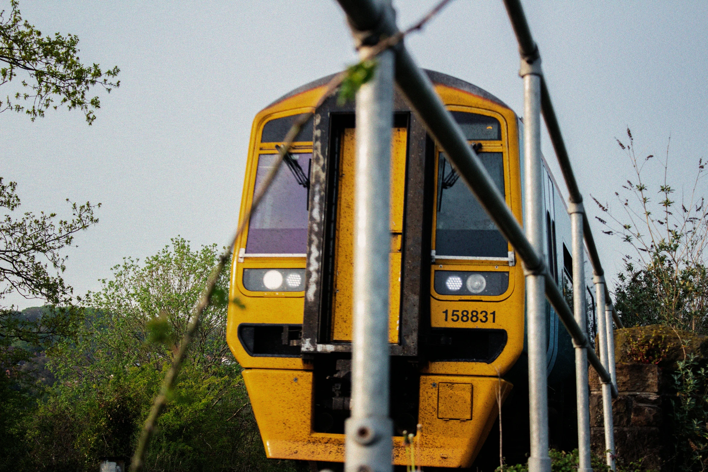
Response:
[{"label": "dark sparse-leaved tree at left edge, below the overhanging top branch", "polygon": [[[0,178],[0,208],[6,212],[0,220],[0,457],[18,443],[21,419],[34,408],[33,389],[41,387],[35,384],[35,361],[47,347],[73,335],[81,321],[72,287],[61,277],[67,259],[62,249],[72,245],[78,231],[98,223],[93,210],[100,206],[70,203],[71,220],[57,221],[55,214],[43,212],[13,217],[20,206],[16,186]],[[4,303],[11,292],[50,305],[21,313]]]}]

